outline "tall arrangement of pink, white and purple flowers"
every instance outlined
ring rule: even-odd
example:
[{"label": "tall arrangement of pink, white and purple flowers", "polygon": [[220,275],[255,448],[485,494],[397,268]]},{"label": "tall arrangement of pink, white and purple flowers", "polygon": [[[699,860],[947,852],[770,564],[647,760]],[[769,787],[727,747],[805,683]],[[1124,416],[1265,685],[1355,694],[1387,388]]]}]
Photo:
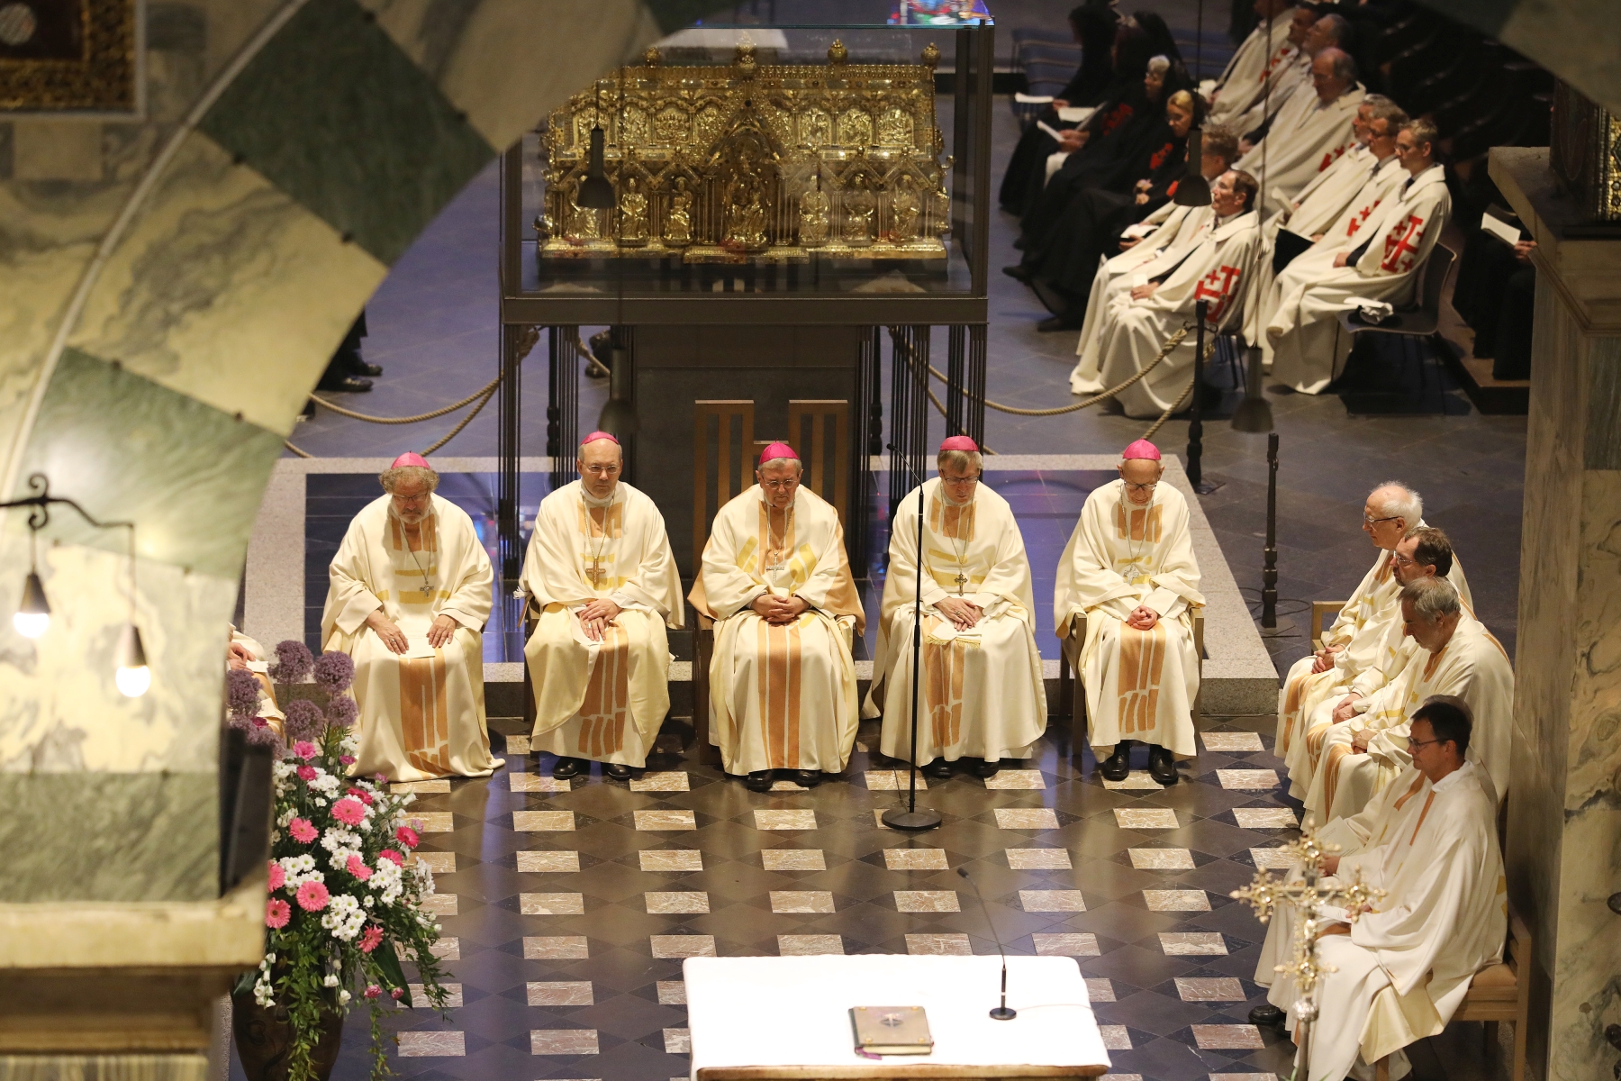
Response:
[{"label": "tall arrangement of pink, white and purple flowers", "polygon": [[[384,1010],[412,1005],[400,956],[417,964],[436,1010],[446,1008],[444,976],[433,946],[439,924],[421,911],[433,874],[407,867],[420,838],[386,778],[350,780],[360,746],[357,707],[345,692],[355,664],[345,653],[311,656],[302,642],[276,647],[271,676],[282,687],[313,681],[326,707],[290,699],[282,731],[256,716],[259,686],[251,673],[227,674],[230,724],[274,758],[276,828],[271,833],[269,898],[264,903],[264,961],[237,984],[264,1008],[287,1011],[292,1028],[289,1079],[314,1076],[311,1053],[323,1015],[347,1013],[353,990],[371,1010],[373,1078],[391,1075]],[[396,1042],[387,1037],[387,1042]]]}]

